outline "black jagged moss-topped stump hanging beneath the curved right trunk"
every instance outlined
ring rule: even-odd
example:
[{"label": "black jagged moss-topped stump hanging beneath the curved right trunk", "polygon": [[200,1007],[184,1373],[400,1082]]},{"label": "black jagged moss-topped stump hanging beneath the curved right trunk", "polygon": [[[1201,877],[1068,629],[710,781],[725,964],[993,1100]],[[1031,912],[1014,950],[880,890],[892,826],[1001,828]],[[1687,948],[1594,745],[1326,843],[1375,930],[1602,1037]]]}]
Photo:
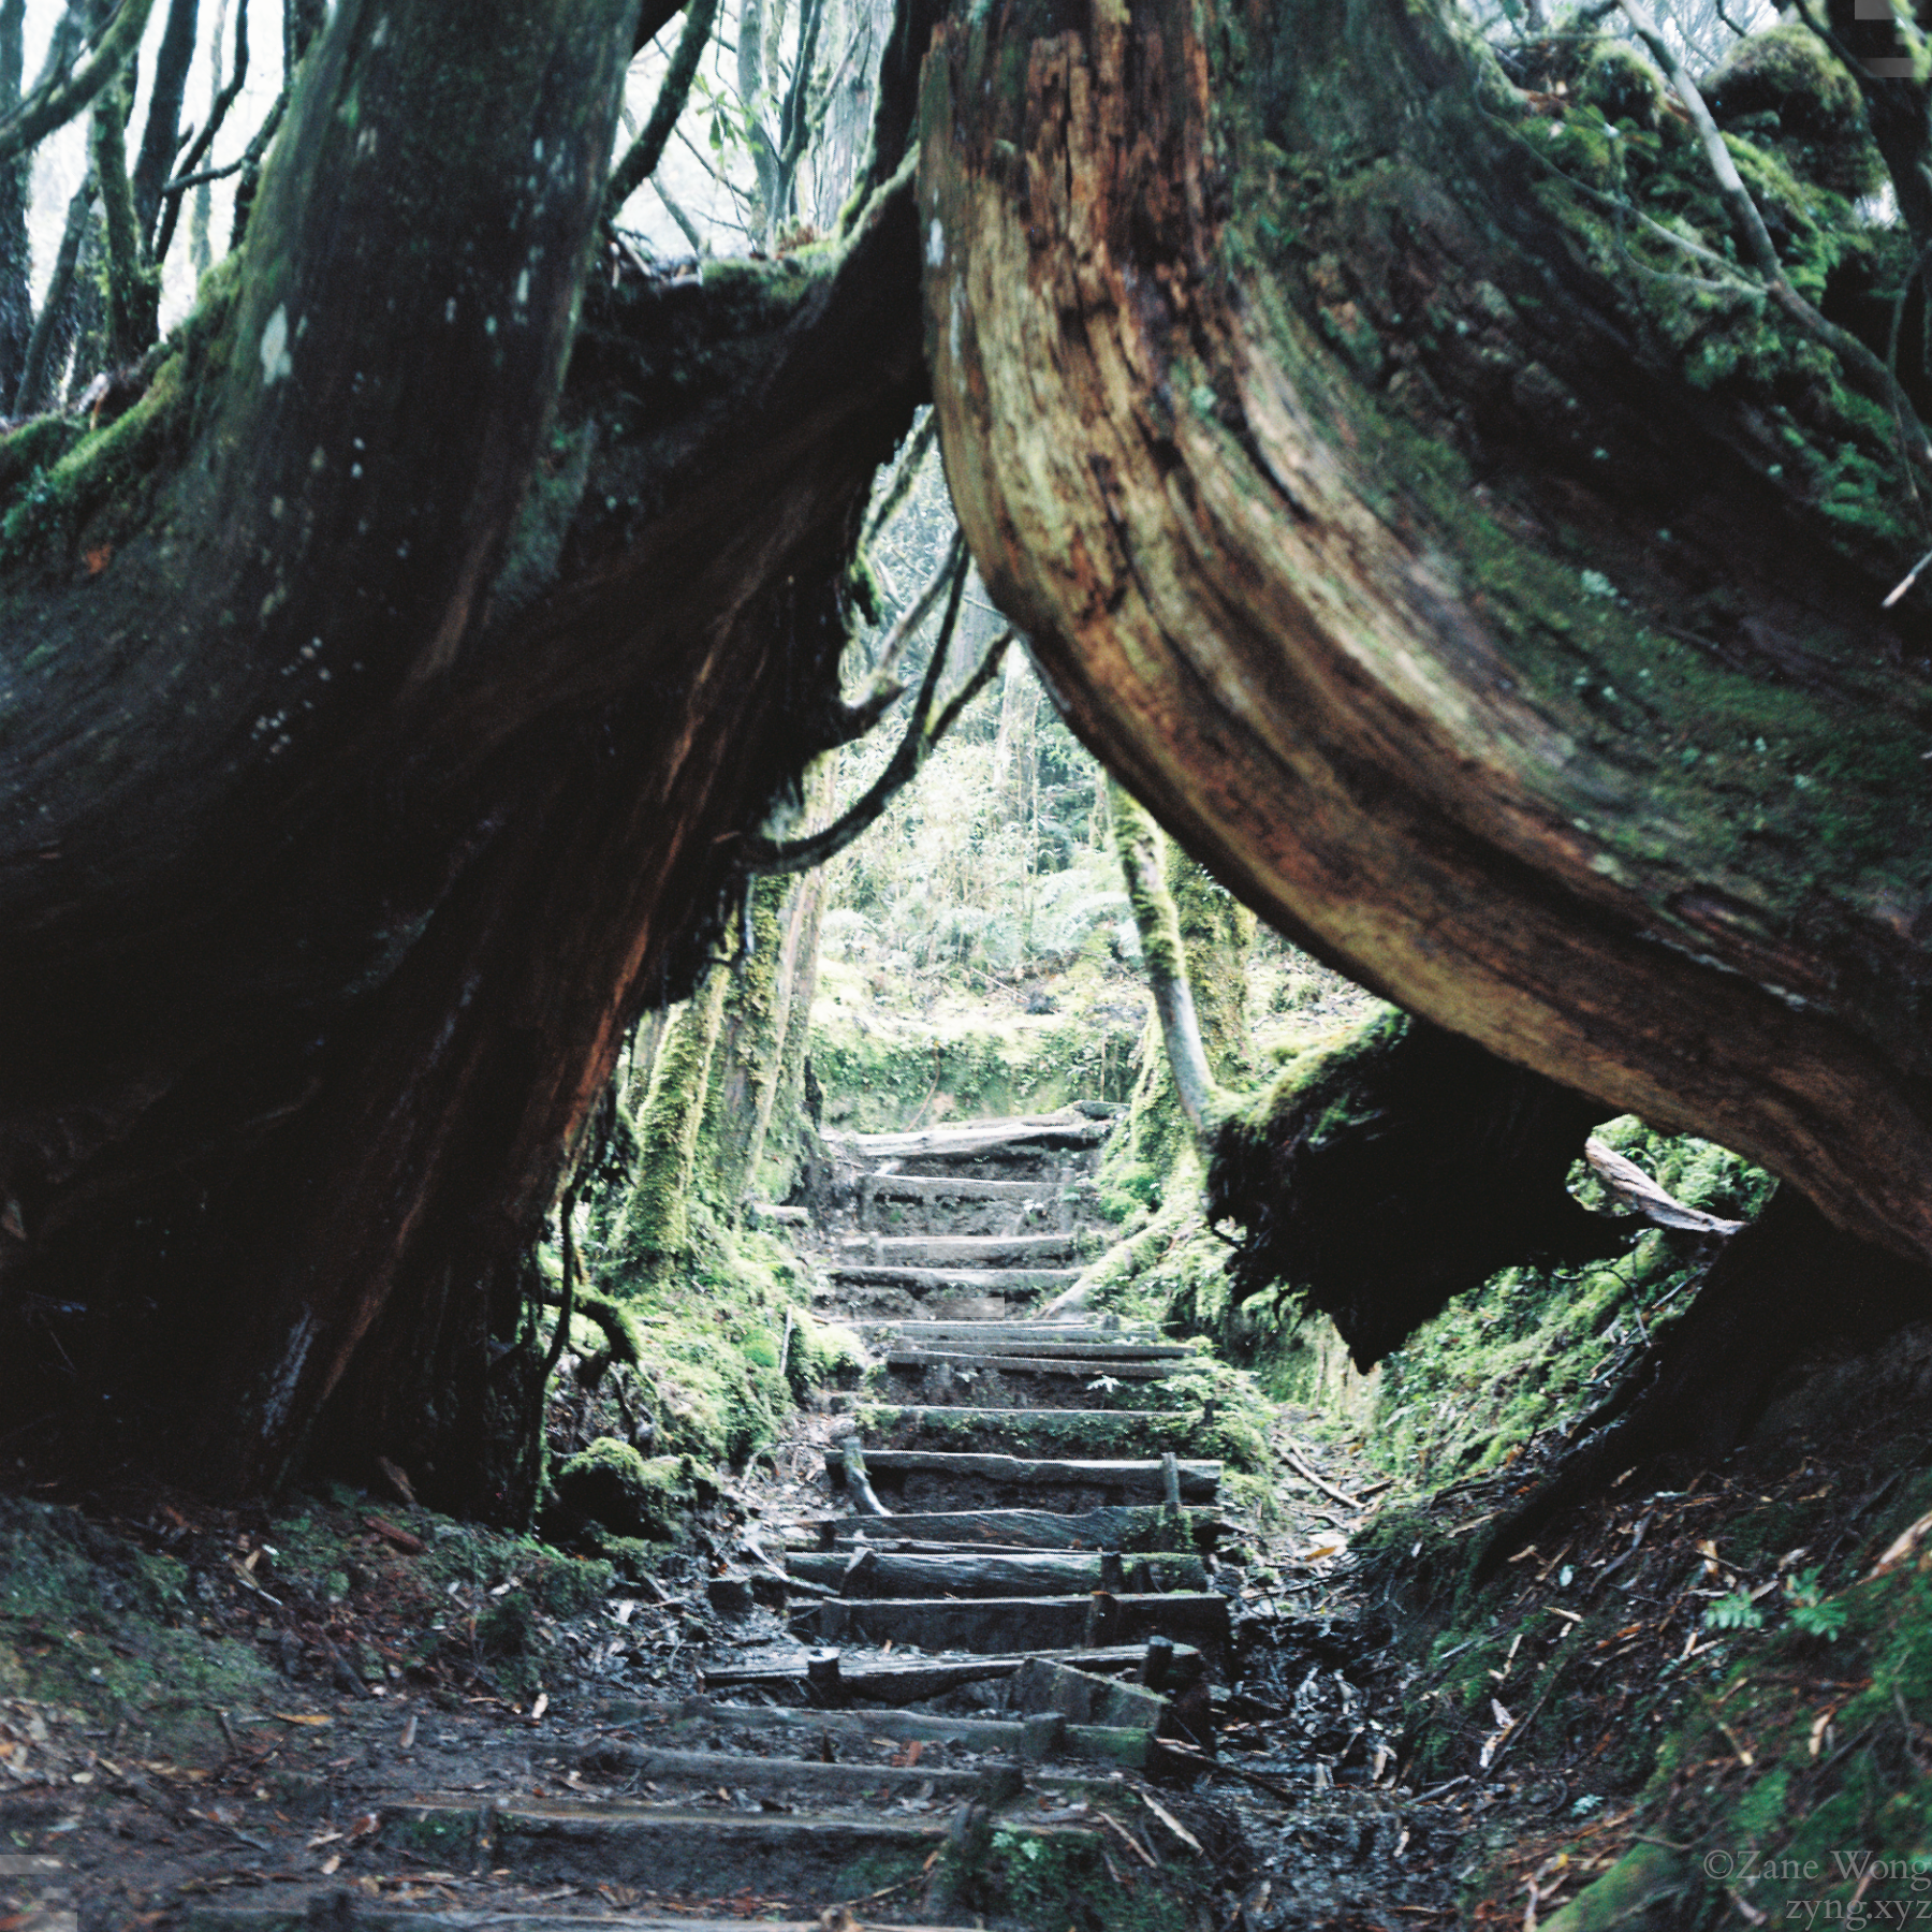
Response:
[{"label": "black jagged moss-topped stump hanging beneath the curved right trunk", "polygon": [[1619,1254],[1642,1223],[1565,1186],[1602,1119],[1426,1020],[1370,1020],[1215,1134],[1208,1211],[1244,1231],[1235,1294],[1289,1283],[1372,1368],[1499,1267]]}]

